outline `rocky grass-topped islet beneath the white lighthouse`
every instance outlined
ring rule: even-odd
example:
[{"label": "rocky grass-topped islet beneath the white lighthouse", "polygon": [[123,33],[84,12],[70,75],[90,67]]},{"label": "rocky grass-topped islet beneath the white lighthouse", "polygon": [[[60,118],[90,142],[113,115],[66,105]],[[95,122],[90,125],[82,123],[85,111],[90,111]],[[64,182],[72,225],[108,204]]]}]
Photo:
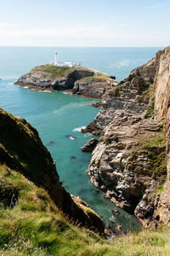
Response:
[{"label": "rocky grass-topped islet beneath the white lighthouse", "polygon": [[115,79],[86,67],[34,67],[14,84],[34,90],[69,90],[70,93],[101,98],[111,90]]}]

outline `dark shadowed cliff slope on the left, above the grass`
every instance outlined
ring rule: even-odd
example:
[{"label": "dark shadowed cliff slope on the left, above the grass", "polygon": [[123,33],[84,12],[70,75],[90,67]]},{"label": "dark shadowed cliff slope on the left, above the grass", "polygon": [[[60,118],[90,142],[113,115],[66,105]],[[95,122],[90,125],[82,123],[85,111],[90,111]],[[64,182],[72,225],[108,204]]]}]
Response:
[{"label": "dark shadowed cliff slope on the left, above the grass", "polygon": [[65,191],[59,182],[54,160],[42,144],[38,132],[25,120],[0,108],[0,166],[20,172],[48,195],[74,222],[104,230],[99,216],[88,205]]}]

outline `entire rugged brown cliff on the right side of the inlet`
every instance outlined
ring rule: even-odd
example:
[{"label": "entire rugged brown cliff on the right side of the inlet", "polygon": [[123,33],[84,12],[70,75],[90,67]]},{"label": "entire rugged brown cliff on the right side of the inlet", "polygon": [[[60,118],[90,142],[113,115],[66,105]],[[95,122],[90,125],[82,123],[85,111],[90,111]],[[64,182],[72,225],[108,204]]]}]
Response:
[{"label": "entire rugged brown cliff on the right side of the inlet", "polygon": [[170,209],[166,194],[160,197],[169,172],[169,61],[167,48],[134,69],[104,97],[99,114],[83,130],[101,135],[88,167],[92,183],[117,206],[135,213],[145,226],[160,218],[156,208],[168,214]]}]

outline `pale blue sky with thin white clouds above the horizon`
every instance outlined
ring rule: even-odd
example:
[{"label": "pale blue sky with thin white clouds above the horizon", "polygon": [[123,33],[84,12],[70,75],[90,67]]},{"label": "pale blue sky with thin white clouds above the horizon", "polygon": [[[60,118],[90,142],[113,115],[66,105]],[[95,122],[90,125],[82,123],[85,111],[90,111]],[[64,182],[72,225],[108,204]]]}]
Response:
[{"label": "pale blue sky with thin white clouds above the horizon", "polygon": [[167,46],[170,0],[0,0],[0,46]]}]

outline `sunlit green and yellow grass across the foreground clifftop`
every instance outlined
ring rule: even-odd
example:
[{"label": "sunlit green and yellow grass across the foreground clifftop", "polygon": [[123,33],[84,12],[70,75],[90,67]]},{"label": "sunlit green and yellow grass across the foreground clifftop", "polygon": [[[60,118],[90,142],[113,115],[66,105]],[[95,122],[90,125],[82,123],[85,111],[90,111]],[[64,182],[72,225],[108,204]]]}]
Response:
[{"label": "sunlit green and yellow grass across the foreground clifftop", "polygon": [[1,201],[1,255],[169,255],[167,226],[129,232],[106,241],[88,229],[73,225],[44,189],[20,173],[0,165],[0,177],[1,189],[10,187],[18,193],[13,207],[4,206]]}]

